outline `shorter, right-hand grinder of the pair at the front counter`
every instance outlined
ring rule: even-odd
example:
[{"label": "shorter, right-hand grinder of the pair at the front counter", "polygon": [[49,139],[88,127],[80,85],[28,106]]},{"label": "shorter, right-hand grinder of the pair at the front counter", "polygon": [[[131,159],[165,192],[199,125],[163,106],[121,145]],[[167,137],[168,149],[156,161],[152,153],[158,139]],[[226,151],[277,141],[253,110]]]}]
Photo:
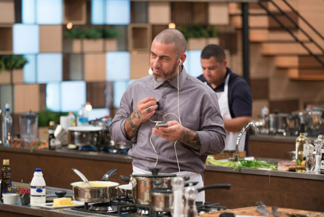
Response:
[{"label": "shorter, right-hand grinder of the pair at the front counter", "polygon": [[185,188],[184,196],[186,198],[186,207],[184,209],[185,217],[198,217],[198,211],[196,206],[196,197],[198,191],[195,187],[192,186],[192,183],[189,184],[189,187]]}]

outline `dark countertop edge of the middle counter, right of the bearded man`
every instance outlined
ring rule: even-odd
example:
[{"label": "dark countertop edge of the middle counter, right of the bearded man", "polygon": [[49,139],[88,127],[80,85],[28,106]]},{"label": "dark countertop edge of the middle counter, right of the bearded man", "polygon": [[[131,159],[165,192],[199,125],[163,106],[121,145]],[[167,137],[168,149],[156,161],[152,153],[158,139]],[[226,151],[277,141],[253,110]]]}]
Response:
[{"label": "dark countertop edge of the middle counter, right of the bearded man", "polygon": [[265,176],[276,176],[276,177],[285,177],[285,178],[299,178],[299,179],[312,179],[312,180],[324,180],[323,174],[309,174],[309,173],[299,173],[299,172],[286,172],[278,170],[265,170],[265,169],[240,169],[234,170],[231,167],[218,167],[207,165],[207,171],[217,171],[217,172],[231,172],[231,173],[242,173],[242,174],[251,174],[251,175],[265,175]]}]

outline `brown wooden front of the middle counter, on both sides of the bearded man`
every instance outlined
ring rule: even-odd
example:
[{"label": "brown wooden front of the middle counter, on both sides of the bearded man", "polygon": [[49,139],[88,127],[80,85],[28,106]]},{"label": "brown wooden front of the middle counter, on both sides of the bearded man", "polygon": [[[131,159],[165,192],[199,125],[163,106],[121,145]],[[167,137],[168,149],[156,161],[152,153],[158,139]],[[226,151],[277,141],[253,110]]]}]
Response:
[{"label": "brown wooden front of the middle counter, on both sides of the bearded man", "polygon": [[[33,170],[42,168],[48,186],[64,189],[72,189],[70,183],[79,180],[71,168],[80,170],[89,180],[100,180],[106,171],[116,168],[118,175],[110,180],[120,184],[125,183],[119,175],[129,176],[132,172],[131,158],[118,154],[64,149],[30,152],[0,147],[0,159],[10,159],[13,181],[30,182]],[[207,166],[203,175],[205,185],[232,185],[230,190],[207,190],[205,194],[206,201],[219,202],[227,208],[254,206],[261,200],[270,206],[324,212],[324,175],[216,166]]]}]

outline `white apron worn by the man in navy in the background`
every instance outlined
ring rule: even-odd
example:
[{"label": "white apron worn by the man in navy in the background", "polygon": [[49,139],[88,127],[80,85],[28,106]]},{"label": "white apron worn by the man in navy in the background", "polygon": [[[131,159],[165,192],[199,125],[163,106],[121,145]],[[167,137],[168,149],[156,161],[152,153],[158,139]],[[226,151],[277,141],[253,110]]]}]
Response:
[{"label": "white apron worn by the man in navy in the background", "polygon": [[[224,92],[218,92],[216,93],[218,97],[218,104],[220,105],[221,114],[224,120],[231,120],[232,116],[229,111],[228,106],[228,81],[229,81],[229,73],[225,78],[225,86],[224,86]],[[240,132],[228,132],[226,131],[226,140],[225,140],[225,148],[224,150],[235,150],[235,144],[237,137],[239,136]],[[241,137],[240,143],[239,143],[239,151],[244,151],[244,145],[245,145],[245,137],[247,132],[244,132],[244,134]]]}]

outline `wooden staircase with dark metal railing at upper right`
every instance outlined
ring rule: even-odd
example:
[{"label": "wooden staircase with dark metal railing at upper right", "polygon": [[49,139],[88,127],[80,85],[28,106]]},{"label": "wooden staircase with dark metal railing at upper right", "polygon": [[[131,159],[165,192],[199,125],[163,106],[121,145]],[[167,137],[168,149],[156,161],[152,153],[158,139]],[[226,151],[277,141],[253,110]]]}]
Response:
[{"label": "wooden staircase with dark metal railing at upper right", "polygon": [[[240,5],[232,3],[229,13],[242,28]],[[249,3],[249,41],[261,43],[262,54],[273,56],[290,79],[324,80],[324,37],[287,0]]]}]

